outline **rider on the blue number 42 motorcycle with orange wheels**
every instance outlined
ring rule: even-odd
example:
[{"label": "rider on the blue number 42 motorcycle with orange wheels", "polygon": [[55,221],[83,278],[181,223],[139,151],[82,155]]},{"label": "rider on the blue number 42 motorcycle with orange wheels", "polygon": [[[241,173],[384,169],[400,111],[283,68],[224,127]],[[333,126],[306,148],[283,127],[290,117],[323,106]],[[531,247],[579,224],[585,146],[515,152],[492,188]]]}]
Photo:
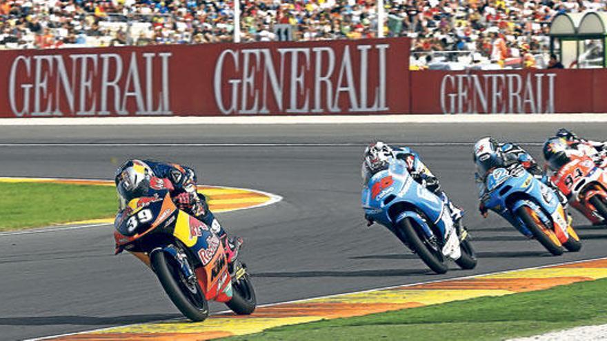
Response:
[{"label": "rider on the blue number 42 motorcycle with orange wheels", "polygon": [[[567,198],[561,191],[544,175],[541,168],[533,157],[525,149],[514,143],[499,143],[495,138],[481,138],[474,146],[472,152],[474,162],[477,168],[475,180],[479,186],[479,211],[485,218],[487,217],[487,208],[485,200],[487,194],[486,176],[496,167],[509,167],[511,165],[522,165],[527,172],[532,174],[537,180],[548,185],[557,194],[561,205],[565,208]],[[569,216],[569,218],[571,218]]]}]

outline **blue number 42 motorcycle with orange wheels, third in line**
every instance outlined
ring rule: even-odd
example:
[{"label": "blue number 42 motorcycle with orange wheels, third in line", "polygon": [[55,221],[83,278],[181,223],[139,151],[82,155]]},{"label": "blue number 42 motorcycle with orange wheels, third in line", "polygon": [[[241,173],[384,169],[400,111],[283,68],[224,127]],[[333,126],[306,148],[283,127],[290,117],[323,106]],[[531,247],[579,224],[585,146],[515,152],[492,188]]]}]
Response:
[{"label": "blue number 42 motorcycle with orange wheels, third in line", "polygon": [[487,193],[481,200],[521,234],[537,239],[551,254],[563,247],[579,251],[581,242],[568,223],[557,195],[519,164],[495,168],[485,179]]}]

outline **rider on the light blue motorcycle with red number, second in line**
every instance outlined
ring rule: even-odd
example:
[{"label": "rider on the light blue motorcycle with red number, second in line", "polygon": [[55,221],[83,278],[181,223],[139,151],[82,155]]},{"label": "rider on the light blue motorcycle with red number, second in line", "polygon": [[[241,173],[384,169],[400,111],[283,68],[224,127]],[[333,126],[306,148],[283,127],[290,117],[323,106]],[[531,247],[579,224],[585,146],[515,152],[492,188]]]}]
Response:
[{"label": "rider on the light blue motorcycle with red number, second in line", "polygon": [[[461,217],[463,212],[453,205],[445,192],[441,191],[439,180],[430,172],[430,169],[421,162],[421,159],[416,152],[408,147],[391,147],[386,143],[377,141],[365,149],[364,158],[362,165],[364,183],[368,183],[368,180],[373,174],[387,169],[390,163],[395,160],[404,161],[412,178],[417,183],[430,190],[430,192],[436,194],[446,205],[448,205],[453,223],[455,224],[455,227],[457,227],[459,234],[461,234],[461,229],[463,228],[463,226],[461,226]],[[372,225],[373,222],[371,220],[367,218],[367,221],[369,226]]]}]

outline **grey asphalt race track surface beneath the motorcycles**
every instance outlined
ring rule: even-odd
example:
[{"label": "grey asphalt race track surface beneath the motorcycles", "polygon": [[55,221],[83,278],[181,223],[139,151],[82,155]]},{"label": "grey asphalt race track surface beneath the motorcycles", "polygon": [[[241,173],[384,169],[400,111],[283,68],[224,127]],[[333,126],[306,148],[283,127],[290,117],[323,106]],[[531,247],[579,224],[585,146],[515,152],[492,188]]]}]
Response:
[{"label": "grey asphalt race track surface beneath the motorcycles", "polygon": [[[219,216],[246,240],[242,257],[263,304],[606,256],[607,230],[588,227],[577,214],[584,247],[561,257],[548,256],[495,214],[486,220],[477,214],[472,143],[492,135],[520,141],[539,157],[544,137],[560,126],[0,127],[0,176],[110,179],[117,161],[157,158],[192,165],[209,185],[279,194],[284,199],[275,205]],[[607,124],[568,127],[607,138]],[[452,265],[434,275],[384,227],[365,226],[361,153],[376,139],[415,147],[466,209],[479,254],[475,270]],[[35,198],[23,205],[35,205]],[[113,256],[111,226],[0,235],[1,340],[177,317],[151,271],[132,256]]]}]

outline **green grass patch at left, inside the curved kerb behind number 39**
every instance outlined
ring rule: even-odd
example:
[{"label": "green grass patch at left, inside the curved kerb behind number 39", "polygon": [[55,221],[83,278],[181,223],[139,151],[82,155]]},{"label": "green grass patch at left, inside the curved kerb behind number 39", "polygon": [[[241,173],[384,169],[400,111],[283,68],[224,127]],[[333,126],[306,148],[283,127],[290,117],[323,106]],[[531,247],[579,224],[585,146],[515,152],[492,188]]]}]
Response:
[{"label": "green grass patch at left, inside the curved kerb behind number 39", "polygon": [[0,183],[0,231],[42,227],[116,214],[116,189],[57,183]]}]

